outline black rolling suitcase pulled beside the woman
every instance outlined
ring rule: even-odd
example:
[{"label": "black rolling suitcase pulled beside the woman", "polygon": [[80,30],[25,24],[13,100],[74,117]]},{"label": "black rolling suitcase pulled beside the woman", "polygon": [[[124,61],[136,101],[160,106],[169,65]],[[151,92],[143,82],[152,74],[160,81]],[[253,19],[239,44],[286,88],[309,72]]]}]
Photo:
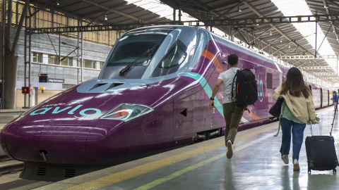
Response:
[{"label": "black rolling suitcase pulled beside the woman", "polygon": [[[319,131],[321,127],[319,123]],[[308,163],[308,172],[311,170],[333,170],[338,165],[337,154],[335,153],[334,139],[332,136],[313,136],[311,125],[311,137],[306,137],[306,155]]]}]

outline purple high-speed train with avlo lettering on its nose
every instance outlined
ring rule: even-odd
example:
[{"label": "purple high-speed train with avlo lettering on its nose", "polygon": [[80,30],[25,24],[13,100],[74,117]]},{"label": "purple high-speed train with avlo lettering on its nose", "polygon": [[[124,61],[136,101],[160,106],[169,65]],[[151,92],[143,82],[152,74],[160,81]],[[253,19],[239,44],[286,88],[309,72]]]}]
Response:
[{"label": "purple high-speed train with avlo lettering on its nose", "polygon": [[[239,130],[268,123],[273,90],[287,67],[189,26],[126,32],[99,77],[31,108],[1,131],[1,146],[25,162],[20,177],[57,181],[168,148],[220,136],[225,129],[222,88],[208,103],[227,55],[256,75],[258,101]],[[333,104],[329,89],[309,84],[316,108]]]}]

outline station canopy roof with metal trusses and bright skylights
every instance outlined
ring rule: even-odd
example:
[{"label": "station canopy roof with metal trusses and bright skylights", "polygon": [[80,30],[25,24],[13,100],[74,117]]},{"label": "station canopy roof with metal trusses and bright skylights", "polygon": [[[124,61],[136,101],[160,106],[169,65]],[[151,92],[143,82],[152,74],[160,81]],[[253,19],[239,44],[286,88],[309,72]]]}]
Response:
[{"label": "station canopy roof with metal trusses and bright skylights", "polygon": [[[184,25],[208,30],[212,26],[213,31],[233,34],[244,46],[254,46],[321,80],[338,80],[339,1],[335,0],[31,0],[30,4],[119,28],[171,24],[175,12],[174,24],[179,24],[180,16]],[[188,22],[194,20],[200,22]]]}]

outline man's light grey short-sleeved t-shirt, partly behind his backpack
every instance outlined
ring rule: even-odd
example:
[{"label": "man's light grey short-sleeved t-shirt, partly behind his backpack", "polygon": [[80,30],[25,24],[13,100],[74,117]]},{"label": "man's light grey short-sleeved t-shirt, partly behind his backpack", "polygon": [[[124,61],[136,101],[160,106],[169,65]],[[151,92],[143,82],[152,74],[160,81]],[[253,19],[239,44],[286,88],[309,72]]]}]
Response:
[{"label": "man's light grey short-sleeved t-shirt, partly behind his backpack", "polygon": [[[222,80],[223,87],[224,87],[224,97],[222,99],[222,103],[230,103],[232,101],[232,82],[234,79],[235,74],[237,74],[237,70],[239,68],[230,68],[225,72],[220,73],[218,79]],[[234,89],[233,94],[235,96],[235,80],[234,80]]]}]

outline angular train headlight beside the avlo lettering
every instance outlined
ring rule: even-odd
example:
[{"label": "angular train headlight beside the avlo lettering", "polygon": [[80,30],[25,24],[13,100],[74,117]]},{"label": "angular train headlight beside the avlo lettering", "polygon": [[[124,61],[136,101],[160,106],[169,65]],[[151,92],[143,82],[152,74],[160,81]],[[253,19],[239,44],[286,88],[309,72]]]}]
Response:
[{"label": "angular train headlight beside the avlo lettering", "polygon": [[154,109],[149,106],[133,103],[121,103],[119,106],[113,108],[105,115],[102,115],[100,119],[103,120],[122,120],[124,122],[133,120],[152,112]]}]

